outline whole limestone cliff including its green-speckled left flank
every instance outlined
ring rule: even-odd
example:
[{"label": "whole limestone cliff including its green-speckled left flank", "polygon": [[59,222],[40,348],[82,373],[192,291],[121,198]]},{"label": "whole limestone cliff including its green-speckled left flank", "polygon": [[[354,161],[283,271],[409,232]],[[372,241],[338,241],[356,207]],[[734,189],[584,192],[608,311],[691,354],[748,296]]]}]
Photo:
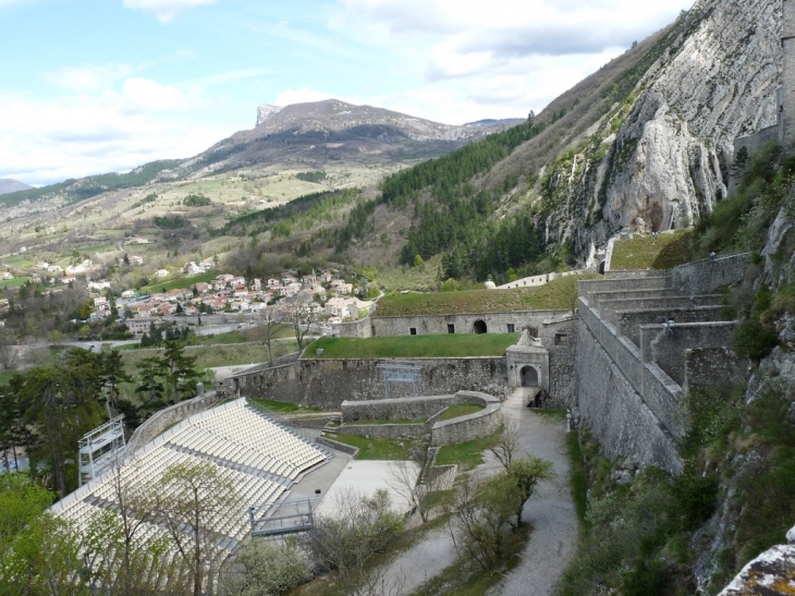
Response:
[{"label": "whole limestone cliff including its green-speckled left flank", "polygon": [[542,162],[530,195],[548,239],[586,256],[622,229],[680,228],[725,197],[734,138],[776,123],[781,17],[781,0],[699,0],[645,41],[615,84],[625,90],[600,92],[613,105]]}]

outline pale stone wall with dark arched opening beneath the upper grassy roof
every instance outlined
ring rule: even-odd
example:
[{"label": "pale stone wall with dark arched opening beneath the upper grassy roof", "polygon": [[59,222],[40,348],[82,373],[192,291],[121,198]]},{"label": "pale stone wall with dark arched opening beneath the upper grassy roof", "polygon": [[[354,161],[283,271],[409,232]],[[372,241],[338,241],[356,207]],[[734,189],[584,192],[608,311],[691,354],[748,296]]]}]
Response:
[{"label": "pale stone wall with dark arched opening beneath the upper grassy roof", "polygon": [[565,314],[566,311],[512,311],[506,313],[467,313],[457,315],[418,315],[404,317],[371,317],[375,336],[440,335],[449,332],[452,325],[456,333],[473,333],[475,321],[486,323],[488,333],[506,333],[509,325],[514,331],[526,327],[540,328],[545,320]]}]

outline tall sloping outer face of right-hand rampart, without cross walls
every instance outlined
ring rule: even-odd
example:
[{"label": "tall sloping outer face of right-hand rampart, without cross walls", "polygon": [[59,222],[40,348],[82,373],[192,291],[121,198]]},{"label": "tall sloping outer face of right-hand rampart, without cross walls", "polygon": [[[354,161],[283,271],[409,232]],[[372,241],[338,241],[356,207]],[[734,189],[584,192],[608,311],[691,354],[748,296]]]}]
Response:
[{"label": "tall sloping outer face of right-hand rampart, without cross walls", "polygon": [[584,321],[576,375],[582,419],[608,458],[629,457],[640,466],[658,465],[673,474],[682,471],[676,439]]}]

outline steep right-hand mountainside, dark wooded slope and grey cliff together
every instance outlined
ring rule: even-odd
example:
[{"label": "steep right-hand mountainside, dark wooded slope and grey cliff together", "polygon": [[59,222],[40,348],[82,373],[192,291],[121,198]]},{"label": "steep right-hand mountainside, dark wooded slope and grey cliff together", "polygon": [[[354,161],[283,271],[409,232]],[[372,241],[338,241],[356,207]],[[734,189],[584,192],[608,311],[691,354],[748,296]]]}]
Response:
[{"label": "steep right-hand mountainside, dark wooded slope and grey cliff together", "polygon": [[697,2],[526,123],[389,177],[350,258],[407,217],[400,263],[441,255],[443,278],[502,282],[583,263],[621,229],[702,219],[727,195],[733,138],[774,118],[779,20],[772,0]]}]

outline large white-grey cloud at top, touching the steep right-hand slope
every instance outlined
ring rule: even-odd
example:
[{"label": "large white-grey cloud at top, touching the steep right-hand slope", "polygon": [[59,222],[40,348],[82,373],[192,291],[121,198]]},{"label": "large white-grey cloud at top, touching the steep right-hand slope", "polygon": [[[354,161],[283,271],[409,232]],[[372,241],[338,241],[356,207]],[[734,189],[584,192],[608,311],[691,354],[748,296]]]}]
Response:
[{"label": "large white-grey cloud at top, touching the steep right-hand slope", "polygon": [[[627,48],[673,21],[690,0],[341,0],[347,28],[431,44],[429,81],[489,74],[525,57]],[[339,17],[335,22],[339,26]]]}]

